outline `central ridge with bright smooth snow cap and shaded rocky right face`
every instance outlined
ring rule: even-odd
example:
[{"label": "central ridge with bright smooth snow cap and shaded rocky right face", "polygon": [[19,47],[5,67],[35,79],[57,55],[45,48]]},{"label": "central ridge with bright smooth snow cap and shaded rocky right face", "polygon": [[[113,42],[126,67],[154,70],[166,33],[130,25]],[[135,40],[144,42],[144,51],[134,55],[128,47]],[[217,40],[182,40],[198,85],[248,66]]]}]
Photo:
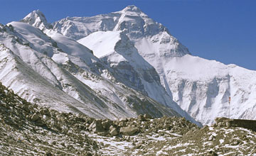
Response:
[{"label": "central ridge with bright smooth snow cap and shaded rocky right face", "polygon": [[154,67],[139,55],[134,44],[121,31],[99,31],[78,40],[92,49],[94,54],[114,69],[114,77],[127,86],[142,91],[152,99],[174,108],[186,118],[189,116],[169,96]]}]

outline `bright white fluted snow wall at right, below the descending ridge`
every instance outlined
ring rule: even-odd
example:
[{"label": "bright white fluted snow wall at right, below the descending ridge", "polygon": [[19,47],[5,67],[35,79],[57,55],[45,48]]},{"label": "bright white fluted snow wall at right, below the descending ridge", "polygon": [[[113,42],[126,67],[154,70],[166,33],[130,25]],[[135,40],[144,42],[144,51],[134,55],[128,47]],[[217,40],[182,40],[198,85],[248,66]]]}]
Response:
[{"label": "bright white fluted snow wall at right, below the descending ridge", "polygon": [[255,119],[255,71],[191,55],[171,58],[165,65],[174,100],[199,121]]}]

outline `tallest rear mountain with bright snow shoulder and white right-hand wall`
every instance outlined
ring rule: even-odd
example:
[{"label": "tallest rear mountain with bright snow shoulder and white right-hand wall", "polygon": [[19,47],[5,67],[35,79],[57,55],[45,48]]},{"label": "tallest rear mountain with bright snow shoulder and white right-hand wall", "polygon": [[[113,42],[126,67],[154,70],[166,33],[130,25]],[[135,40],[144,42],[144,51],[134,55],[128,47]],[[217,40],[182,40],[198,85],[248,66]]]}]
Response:
[{"label": "tallest rear mountain with bright snow shoulder and white right-hand wall", "polygon": [[[110,65],[122,62],[115,60],[120,53],[113,48],[116,36],[126,35],[139,55],[156,69],[166,93],[203,124],[213,123],[218,116],[256,118],[255,71],[191,55],[167,28],[136,6],[92,17],[67,17],[52,26],[91,48]],[[100,52],[100,46],[105,52]]]}]

